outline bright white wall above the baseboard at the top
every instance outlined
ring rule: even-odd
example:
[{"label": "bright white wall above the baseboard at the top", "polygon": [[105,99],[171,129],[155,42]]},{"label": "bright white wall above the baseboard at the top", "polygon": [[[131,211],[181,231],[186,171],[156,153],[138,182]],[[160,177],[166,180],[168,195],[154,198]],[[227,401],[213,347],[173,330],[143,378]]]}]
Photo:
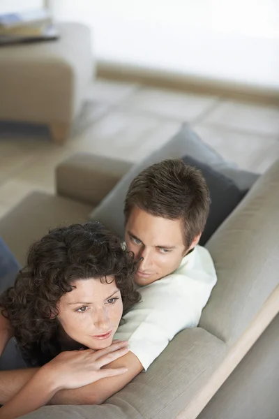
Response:
[{"label": "bright white wall above the baseboard at the top", "polygon": [[91,27],[99,60],[279,89],[279,0],[48,3]]}]

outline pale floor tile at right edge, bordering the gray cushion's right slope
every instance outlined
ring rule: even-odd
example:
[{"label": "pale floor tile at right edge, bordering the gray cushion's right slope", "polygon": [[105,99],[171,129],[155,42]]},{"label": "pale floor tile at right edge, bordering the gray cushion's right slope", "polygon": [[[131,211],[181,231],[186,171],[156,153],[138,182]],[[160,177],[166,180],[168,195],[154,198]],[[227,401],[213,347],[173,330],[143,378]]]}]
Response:
[{"label": "pale floor tile at right edge, bordering the gray cushion's right slope", "polygon": [[276,138],[202,125],[194,129],[224,159],[233,161],[240,168],[262,173],[279,158],[279,141]]}]

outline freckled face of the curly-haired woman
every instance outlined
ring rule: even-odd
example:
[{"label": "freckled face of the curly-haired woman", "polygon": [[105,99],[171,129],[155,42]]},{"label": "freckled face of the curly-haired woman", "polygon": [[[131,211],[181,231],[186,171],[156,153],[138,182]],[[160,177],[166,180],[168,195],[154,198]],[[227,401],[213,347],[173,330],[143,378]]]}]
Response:
[{"label": "freckled face of the curly-haired woman", "polygon": [[114,278],[107,277],[107,282],[78,279],[72,284],[76,288],[64,294],[58,306],[57,318],[67,335],[95,350],[112,344],[123,311]]}]

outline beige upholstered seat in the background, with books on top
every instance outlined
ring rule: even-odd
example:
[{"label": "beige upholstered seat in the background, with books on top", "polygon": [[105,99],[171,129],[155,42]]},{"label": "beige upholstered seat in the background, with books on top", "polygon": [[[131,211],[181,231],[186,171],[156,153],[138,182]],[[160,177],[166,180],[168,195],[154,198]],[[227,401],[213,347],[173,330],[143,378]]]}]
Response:
[{"label": "beige upholstered seat in the background, with books on top", "polygon": [[58,28],[57,41],[1,47],[0,120],[45,124],[61,143],[92,80],[93,57],[88,28],[77,23]]}]

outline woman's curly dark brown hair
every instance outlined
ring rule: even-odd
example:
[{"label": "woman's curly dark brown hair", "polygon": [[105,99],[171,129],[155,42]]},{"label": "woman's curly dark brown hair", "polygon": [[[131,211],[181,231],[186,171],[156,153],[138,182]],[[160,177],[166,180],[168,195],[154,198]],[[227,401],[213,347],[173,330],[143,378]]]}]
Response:
[{"label": "woman's curly dark brown hair", "polygon": [[101,223],[92,221],[54,228],[34,243],[15,285],[0,296],[25,358],[43,365],[61,352],[57,304],[72,291],[77,279],[113,276],[121,291],[123,315],[140,301],[133,275],[137,263],[121,247],[119,237]]}]

